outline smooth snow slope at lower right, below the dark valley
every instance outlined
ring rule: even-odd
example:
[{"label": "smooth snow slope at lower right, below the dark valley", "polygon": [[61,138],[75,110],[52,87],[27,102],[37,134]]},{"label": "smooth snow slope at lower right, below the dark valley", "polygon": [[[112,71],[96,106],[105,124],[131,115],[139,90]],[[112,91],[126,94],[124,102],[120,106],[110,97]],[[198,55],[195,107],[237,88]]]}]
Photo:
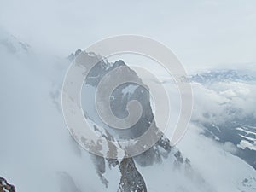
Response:
[{"label": "smooth snow slope at lower right, below the dark valley", "polygon": [[191,165],[211,181],[216,191],[255,191],[253,167],[227,152],[224,145],[202,136],[201,131],[200,127],[190,125],[188,133],[177,145],[189,156]]}]

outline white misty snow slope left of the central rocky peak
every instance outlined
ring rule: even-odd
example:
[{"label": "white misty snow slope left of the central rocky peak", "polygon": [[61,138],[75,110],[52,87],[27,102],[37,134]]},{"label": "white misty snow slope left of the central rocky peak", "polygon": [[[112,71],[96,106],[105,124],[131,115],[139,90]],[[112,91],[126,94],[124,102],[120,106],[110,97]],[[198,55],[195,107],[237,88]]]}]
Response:
[{"label": "white misty snow slope left of the central rocky peak", "polygon": [[[79,191],[104,191],[90,154],[73,142],[55,108],[53,81],[44,73],[48,63],[1,54],[5,56],[0,58],[0,174],[17,191],[75,191],[62,190],[67,185]],[[42,68],[45,71],[38,70]],[[58,71],[52,78],[61,83],[64,74]]]}]

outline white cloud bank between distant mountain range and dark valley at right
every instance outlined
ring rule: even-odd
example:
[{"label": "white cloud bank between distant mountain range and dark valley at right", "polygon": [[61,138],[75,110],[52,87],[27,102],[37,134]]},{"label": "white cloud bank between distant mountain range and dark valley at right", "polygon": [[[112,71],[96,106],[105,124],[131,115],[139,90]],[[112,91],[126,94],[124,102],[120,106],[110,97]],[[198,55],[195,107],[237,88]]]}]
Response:
[{"label": "white cloud bank between distant mountain range and dark valley at right", "polygon": [[256,85],[241,82],[217,82],[207,86],[193,84],[194,120],[224,123],[232,119],[256,117]]}]

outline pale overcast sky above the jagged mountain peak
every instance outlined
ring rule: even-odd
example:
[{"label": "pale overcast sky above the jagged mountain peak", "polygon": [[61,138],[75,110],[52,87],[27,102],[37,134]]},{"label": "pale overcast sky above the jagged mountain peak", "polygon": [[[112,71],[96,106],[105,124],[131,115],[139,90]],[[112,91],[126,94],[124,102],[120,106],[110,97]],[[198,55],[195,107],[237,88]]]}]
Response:
[{"label": "pale overcast sky above the jagged mountain peak", "polygon": [[256,62],[255,10],[255,0],[0,0],[0,26],[61,56],[139,34],[166,44],[190,70]]}]

